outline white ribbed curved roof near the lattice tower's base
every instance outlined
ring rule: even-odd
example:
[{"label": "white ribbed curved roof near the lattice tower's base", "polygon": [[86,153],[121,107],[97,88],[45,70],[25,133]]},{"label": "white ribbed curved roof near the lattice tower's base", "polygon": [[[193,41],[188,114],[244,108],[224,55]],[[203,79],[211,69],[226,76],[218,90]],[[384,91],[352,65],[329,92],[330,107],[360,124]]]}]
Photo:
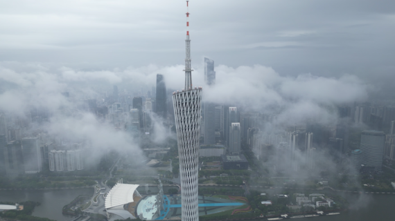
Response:
[{"label": "white ribbed curved roof near the lattice tower's base", "polygon": [[[137,187],[139,187],[138,184],[115,184],[105,198],[105,209],[134,202],[133,194]],[[137,192],[137,195],[140,193]]]}]

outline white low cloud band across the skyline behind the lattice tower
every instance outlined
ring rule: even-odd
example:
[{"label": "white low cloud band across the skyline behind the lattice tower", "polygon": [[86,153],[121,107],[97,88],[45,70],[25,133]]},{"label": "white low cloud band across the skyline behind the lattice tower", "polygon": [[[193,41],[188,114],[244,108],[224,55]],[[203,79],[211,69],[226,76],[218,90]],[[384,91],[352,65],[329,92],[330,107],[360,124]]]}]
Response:
[{"label": "white low cloud band across the skyline behind the lattice tower", "polygon": [[[0,95],[1,109],[15,113],[23,113],[28,106],[42,106],[51,111],[60,106],[70,106],[69,101],[60,94],[64,91],[76,90],[75,94],[80,95],[80,99],[96,98],[98,93],[103,92],[89,88],[96,83],[107,84],[108,88],[119,84],[131,90],[144,86],[149,89],[155,86],[157,73],[164,75],[166,87],[170,90],[182,90],[184,87],[182,65],[150,65],[123,70],[74,70],[63,66],[53,73],[42,66],[30,65],[24,71],[0,68],[0,79],[16,85]],[[80,84],[84,86],[78,88]],[[311,74],[286,77],[261,65],[238,68],[217,66],[214,86],[204,85],[204,71],[198,66],[193,72],[193,86],[203,86],[204,102],[240,105],[254,111],[281,109],[282,113],[292,115],[294,119],[321,114],[324,116],[321,119],[331,119],[332,113],[328,113],[326,106],[364,100],[369,89],[367,84],[353,75],[343,75],[337,79]]]}]

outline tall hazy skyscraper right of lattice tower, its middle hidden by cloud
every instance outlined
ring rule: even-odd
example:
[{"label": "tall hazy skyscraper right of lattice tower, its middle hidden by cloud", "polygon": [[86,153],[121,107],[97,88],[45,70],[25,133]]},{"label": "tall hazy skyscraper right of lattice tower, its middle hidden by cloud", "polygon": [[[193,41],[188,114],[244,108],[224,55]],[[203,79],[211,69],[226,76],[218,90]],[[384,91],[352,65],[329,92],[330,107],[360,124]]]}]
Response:
[{"label": "tall hazy skyscraper right of lattice tower, its middle hidden by cloud", "polygon": [[[216,83],[214,61],[204,58],[204,81],[208,86]],[[216,144],[216,105],[210,102],[204,103],[204,144]]]}]

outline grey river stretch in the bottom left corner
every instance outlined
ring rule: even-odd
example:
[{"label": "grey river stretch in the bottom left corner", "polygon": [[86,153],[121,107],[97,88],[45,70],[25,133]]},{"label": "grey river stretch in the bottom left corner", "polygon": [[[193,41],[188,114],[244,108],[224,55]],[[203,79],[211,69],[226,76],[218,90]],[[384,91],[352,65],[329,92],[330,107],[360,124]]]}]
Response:
[{"label": "grey river stretch in the bottom left corner", "polygon": [[62,214],[64,205],[69,204],[78,195],[92,195],[93,189],[64,189],[64,190],[21,190],[21,191],[0,191],[0,202],[41,202],[36,206],[32,215],[49,218],[52,220],[70,220],[70,216]]}]

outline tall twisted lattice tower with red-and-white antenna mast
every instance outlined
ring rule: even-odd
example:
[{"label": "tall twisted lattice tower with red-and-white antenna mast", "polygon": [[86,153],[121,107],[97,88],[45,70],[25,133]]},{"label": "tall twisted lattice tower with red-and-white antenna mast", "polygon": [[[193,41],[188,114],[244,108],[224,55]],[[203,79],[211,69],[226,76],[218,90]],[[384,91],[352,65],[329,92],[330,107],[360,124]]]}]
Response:
[{"label": "tall twisted lattice tower with red-and-white antenna mast", "polygon": [[173,106],[181,179],[181,218],[183,221],[198,221],[198,164],[202,87],[192,87],[191,40],[189,39],[188,17],[188,1],[186,1],[185,86],[181,92],[177,90],[173,93]]}]

